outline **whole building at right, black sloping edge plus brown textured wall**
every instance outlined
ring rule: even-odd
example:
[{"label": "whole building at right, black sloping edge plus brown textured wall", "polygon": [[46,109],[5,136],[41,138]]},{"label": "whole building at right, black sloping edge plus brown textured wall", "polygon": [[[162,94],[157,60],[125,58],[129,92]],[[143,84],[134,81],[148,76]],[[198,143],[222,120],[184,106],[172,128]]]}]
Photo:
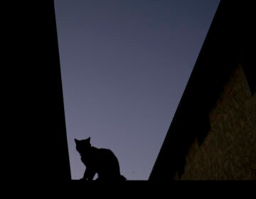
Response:
[{"label": "whole building at right, black sloping edge plus brown textured wall", "polygon": [[255,18],[220,1],[149,181],[256,180]]}]

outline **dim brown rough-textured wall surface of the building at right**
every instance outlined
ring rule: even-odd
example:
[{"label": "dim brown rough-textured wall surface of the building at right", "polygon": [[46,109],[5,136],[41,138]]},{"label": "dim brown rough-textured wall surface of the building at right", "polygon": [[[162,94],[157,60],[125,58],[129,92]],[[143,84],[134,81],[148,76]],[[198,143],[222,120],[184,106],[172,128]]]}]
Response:
[{"label": "dim brown rough-textured wall surface of the building at right", "polygon": [[181,180],[256,180],[256,95],[241,66],[211,110],[210,126],[203,144],[195,140],[188,151]]}]

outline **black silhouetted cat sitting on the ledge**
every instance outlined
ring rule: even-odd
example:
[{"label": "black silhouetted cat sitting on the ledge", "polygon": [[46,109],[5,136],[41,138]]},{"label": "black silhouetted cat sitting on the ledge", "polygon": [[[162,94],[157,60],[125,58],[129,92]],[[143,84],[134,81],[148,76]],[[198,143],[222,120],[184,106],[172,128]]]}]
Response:
[{"label": "black silhouetted cat sitting on the ledge", "polygon": [[97,173],[97,181],[125,181],[120,175],[119,162],[110,149],[97,149],[88,139],[75,139],[76,149],[85,164],[85,174],[82,180],[92,181]]}]

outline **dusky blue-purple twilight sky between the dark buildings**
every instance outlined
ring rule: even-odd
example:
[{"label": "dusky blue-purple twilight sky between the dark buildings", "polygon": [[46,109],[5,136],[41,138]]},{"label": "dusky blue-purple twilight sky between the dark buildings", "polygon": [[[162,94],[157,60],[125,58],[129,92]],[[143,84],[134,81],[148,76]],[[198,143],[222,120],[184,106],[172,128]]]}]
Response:
[{"label": "dusky blue-purple twilight sky between the dark buildings", "polygon": [[77,139],[147,180],[220,0],[55,0],[73,179]]}]

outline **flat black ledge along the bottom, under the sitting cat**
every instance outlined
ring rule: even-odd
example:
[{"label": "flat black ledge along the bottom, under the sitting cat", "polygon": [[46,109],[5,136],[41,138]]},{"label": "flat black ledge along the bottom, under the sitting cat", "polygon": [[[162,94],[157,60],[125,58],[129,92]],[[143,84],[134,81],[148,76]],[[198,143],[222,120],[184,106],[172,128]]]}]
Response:
[{"label": "flat black ledge along the bottom, under the sitting cat", "polygon": [[[166,198],[178,196],[220,197],[223,193],[232,195],[250,195],[255,190],[256,181],[122,181],[85,182],[85,181],[54,181],[45,182],[23,181],[10,182],[7,188],[9,198],[12,195],[33,196],[33,198]],[[7,185],[7,184],[5,184]],[[254,193],[255,194],[255,193]],[[115,197],[114,197],[115,198]]]}]

